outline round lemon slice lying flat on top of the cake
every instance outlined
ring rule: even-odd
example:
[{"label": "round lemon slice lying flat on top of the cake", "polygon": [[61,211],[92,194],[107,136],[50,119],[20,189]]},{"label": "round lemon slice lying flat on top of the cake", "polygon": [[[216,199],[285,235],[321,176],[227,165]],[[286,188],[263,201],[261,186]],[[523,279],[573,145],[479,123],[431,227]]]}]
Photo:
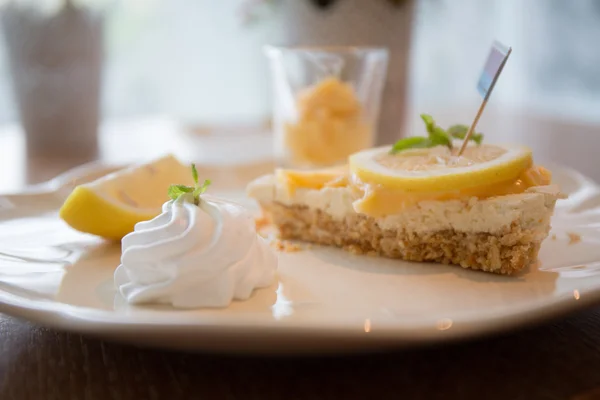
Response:
[{"label": "round lemon slice lying flat on top of the cake", "polygon": [[533,165],[523,146],[469,146],[457,157],[444,146],[389,154],[390,147],[361,151],[349,157],[360,181],[405,193],[450,192],[517,179]]}]

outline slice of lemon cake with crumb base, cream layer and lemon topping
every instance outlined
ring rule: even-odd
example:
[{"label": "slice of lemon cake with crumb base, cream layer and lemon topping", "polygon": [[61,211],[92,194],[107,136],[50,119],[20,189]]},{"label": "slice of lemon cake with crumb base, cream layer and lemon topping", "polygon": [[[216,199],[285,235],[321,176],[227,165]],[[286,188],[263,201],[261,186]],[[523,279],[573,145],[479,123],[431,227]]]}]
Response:
[{"label": "slice of lemon cake with crumb base, cream layer and lemon topping", "polygon": [[276,170],[248,194],[284,239],[500,274],[537,259],[561,194],[528,148],[474,144],[457,156],[452,143],[409,139],[339,168]]}]

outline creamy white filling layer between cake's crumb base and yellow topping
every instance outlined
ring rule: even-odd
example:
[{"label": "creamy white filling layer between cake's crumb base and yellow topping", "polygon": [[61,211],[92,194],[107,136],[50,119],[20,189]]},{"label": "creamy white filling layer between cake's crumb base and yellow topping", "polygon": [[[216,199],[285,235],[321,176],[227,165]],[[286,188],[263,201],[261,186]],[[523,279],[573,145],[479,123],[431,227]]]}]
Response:
[{"label": "creamy white filling layer between cake's crumb base and yellow topping", "polygon": [[[247,194],[261,203],[304,205],[326,212],[335,219],[356,214],[352,203],[359,196],[349,187],[297,189],[289,193],[286,187],[278,184],[274,175],[251,182]],[[550,185],[530,188],[523,194],[487,199],[421,201],[401,213],[376,220],[382,229],[416,233],[442,230],[497,233],[517,224],[542,240],[547,235],[547,226],[560,196],[558,187]]]}]

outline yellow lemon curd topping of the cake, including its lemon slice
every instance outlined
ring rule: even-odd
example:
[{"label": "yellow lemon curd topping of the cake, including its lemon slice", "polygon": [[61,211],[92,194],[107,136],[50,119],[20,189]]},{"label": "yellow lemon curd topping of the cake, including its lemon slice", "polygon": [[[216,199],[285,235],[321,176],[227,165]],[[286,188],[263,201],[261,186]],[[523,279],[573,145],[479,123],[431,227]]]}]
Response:
[{"label": "yellow lemon curd topping of the cake, including its lemon slice", "polygon": [[427,200],[489,198],[545,186],[551,174],[533,164],[526,148],[482,145],[461,157],[448,148],[410,150],[391,155],[371,149],[350,157],[345,168],[320,171],[279,170],[290,192],[349,186],[357,193],[356,212],[379,217]]}]

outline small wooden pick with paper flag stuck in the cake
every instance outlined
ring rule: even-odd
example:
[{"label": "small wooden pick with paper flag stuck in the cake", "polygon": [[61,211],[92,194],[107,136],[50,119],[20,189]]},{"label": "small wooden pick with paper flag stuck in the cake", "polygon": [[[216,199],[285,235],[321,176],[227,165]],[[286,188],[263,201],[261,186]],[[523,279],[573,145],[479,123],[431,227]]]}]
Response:
[{"label": "small wooden pick with paper flag stuck in the cake", "polygon": [[477,111],[477,115],[475,115],[475,119],[469,127],[469,130],[465,135],[463,144],[460,147],[460,150],[458,151],[459,156],[467,148],[469,138],[471,137],[473,132],[475,132],[475,127],[479,122],[479,118],[481,117],[481,114],[483,114],[483,110],[485,109],[490,95],[492,94],[492,90],[494,90],[494,86],[498,81],[498,77],[502,73],[502,69],[504,69],[504,65],[506,64],[506,61],[508,60],[508,57],[510,56],[511,52],[512,48],[506,47],[498,41],[495,41],[492,44],[490,54],[488,55],[481,76],[479,77],[479,82],[477,83],[477,91],[479,92],[479,94],[481,94],[481,97],[483,97],[483,101],[481,102],[479,110]]}]

